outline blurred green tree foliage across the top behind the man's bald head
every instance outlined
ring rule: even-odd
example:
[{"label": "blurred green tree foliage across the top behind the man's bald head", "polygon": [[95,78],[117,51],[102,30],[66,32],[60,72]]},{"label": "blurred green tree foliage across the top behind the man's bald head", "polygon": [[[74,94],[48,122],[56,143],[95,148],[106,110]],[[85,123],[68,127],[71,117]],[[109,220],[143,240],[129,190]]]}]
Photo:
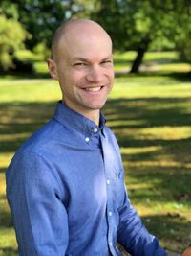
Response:
[{"label": "blurred green tree foliage across the top behind the man's bald head", "polygon": [[[41,52],[41,59],[49,55],[54,30],[72,17],[98,21],[118,51],[141,51],[143,57],[147,50],[176,48],[182,59],[191,61],[190,0],[3,0],[0,14],[22,24],[31,35],[25,37],[25,46]],[[10,53],[2,57],[5,63],[8,58]]]}]

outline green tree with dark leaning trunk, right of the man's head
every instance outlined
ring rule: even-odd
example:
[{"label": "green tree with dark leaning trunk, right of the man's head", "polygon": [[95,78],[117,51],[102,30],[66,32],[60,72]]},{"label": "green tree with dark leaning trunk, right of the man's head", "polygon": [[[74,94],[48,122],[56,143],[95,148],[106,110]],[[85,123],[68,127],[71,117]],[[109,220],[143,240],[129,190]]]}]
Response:
[{"label": "green tree with dark leaning trunk, right of the man's head", "polygon": [[[92,16],[112,35],[114,47],[137,51],[131,72],[138,72],[144,54],[154,44],[190,49],[186,47],[191,24],[189,0],[102,0],[97,8]],[[186,56],[184,51],[182,55]]]}]

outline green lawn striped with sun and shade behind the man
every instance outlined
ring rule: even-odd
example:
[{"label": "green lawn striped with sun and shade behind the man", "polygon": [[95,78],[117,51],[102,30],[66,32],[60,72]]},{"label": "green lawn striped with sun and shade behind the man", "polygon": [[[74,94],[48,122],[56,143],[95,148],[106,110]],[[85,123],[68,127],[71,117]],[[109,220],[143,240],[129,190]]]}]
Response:
[{"label": "green lawn striped with sun and shade behind the man", "polygon": [[[130,65],[134,55],[117,53],[116,71],[126,67],[126,58]],[[137,76],[117,76],[104,113],[121,147],[132,203],[164,247],[182,251],[191,240],[191,81],[186,75],[190,67],[176,59],[176,53],[149,53],[145,63],[152,61],[157,70],[149,66]],[[5,170],[14,151],[49,120],[60,99],[45,63],[36,62],[35,68],[36,77],[0,78],[0,256],[17,255]]]}]

